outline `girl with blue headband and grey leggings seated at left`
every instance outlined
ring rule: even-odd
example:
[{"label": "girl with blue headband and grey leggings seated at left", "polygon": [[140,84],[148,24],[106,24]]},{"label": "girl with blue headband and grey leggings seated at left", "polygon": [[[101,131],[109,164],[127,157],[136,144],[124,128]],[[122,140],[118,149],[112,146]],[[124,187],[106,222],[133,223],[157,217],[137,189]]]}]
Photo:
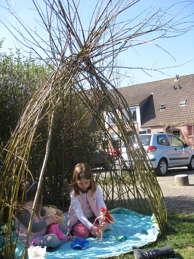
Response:
[{"label": "girl with blue headband and grey leggings seated at left", "polygon": [[[37,187],[37,182],[34,182],[31,178],[22,180],[19,185],[18,196],[15,201],[15,227],[18,232],[18,239],[23,244],[26,243],[29,221]],[[41,189],[34,214],[29,246],[50,246],[54,248],[70,240],[71,236],[65,237],[64,239],[59,239],[54,234],[46,234],[48,225],[55,223],[58,218],[54,215],[49,215],[49,218],[46,220],[41,218],[40,212],[44,212],[43,207],[41,207],[42,200],[43,195]],[[55,210],[57,210],[57,213],[62,216],[63,212],[61,210]],[[66,231],[66,225],[64,223],[59,223],[59,228],[62,232]]]}]

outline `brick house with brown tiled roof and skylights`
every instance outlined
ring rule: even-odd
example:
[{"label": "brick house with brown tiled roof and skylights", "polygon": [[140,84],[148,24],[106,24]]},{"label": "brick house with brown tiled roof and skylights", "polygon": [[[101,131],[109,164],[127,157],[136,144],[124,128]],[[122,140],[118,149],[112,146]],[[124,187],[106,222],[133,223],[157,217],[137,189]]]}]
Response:
[{"label": "brick house with brown tiled roof and skylights", "polygon": [[[118,90],[130,107],[138,134],[172,133],[194,148],[194,74]],[[110,130],[114,139],[116,128]]]}]

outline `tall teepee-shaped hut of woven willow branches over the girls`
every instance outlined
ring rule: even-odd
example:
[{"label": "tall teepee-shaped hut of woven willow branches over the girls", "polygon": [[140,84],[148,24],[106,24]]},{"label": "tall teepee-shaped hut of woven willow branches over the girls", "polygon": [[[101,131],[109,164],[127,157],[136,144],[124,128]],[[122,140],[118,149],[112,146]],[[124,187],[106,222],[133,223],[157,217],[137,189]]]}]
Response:
[{"label": "tall teepee-shaped hut of woven willow branches over the girls", "polygon": [[[135,19],[117,23],[122,12],[138,1],[102,1],[91,13],[89,28],[85,31],[79,5],[74,1],[71,4],[69,1],[45,1],[46,13],[33,2],[49,35],[49,42],[44,42],[46,47],[41,46],[41,51],[49,53],[54,70],[26,106],[1,154],[4,164],[1,168],[0,220],[2,223],[6,215],[7,247],[12,246],[13,204],[21,179],[30,176],[38,179],[34,207],[42,186],[45,203],[58,205],[60,200],[62,209],[68,209],[73,167],[80,162],[91,163],[99,143],[104,152],[107,145],[118,152],[117,162],[114,157],[109,160],[107,155],[107,168],[94,171],[108,208],[126,207],[142,214],[151,211],[161,232],[165,233],[167,215],[162,191],[141,143],[134,151],[134,142],[127,137],[127,132],[131,131],[134,136],[137,132],[126,100],[115,85],[114,66],[118,53],[144,42],[138,41],[137,37],[149,32],[160,32],[156,37],[161,37],[175,30],[175,23],[159,11],[147,15],[136,25]],[[25,27],[25,24],[21,25]],[[129,29],[130,26],[133,29]],[[36,47],[40,44],[34,43],[33,33],[29,35],[32,37],[28,39],[29,48],[40,56],[37,48],[30,47],[31,43]],[[111,125],[107,124],[108,113],[113,122]],[[110,129],[118,132],[117,146],[112,141]],[[125,161],[120,153],[123,141],[132,165],[126,169],[122,166]],[[34,210],[29,229],[33,215]],[[6,256],[7,250],[4,250]]]}]

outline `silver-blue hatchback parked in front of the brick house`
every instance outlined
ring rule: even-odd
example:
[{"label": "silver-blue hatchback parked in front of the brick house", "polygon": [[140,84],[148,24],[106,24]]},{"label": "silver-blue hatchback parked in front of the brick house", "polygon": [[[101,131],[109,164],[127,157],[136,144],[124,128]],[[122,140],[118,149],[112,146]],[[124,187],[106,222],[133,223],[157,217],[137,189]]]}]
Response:
[{"label": "silver-blue hatchback parked in front of the brick house", "polygon": [[[157,176],[164,176],[168,168],[187,166],[194,170],[194,150],[180,138],[168,133],[142,134],[140,141],[147,152],[149,165],[153,166]],[[136,145],[138,148],[138,144]],[[122,157],[130,167],[129,155],[125,143],[122,144]]]}]

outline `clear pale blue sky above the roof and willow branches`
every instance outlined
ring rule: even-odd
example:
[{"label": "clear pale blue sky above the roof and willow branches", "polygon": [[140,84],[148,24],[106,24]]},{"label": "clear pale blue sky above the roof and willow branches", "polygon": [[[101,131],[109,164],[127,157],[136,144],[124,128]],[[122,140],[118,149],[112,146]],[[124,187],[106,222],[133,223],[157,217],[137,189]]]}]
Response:
[{"label": "clear pale blue sky above the roof and willow branches", "polygon": [[[37,23],[35,19],[39,19],[37,16],[37,12],[35,12],[34,5],[31,0],[1,0],[1,7],[0,7],[0,16],[1,20],[4,20],[4,17],[12,24],[16,25],[16,20],[12,18],[11,15],[8,15],[8,12],[2,7],[7,6],[8,2],[10,5],[14,3],[14,10],[19,15],[22,21],[24,21],[29,27],[37,28]],[[176,11],[180,10],[182,7],[186,6],[187,4],[192,3],[193,1],[172,1],[172,0],[163,0],[163,1],[156,1],[156,0],[141,0],[137,4],[129,9],[123,16],[120,18],[122,19],[129,19],[135,15],[138,15],[143,10],[150,8],[149,10],[159,7],[168,7],[172,4],[170,13],[176,13]],[[41,1],[38,1],[41,3]],[[92,15],[92,11],[94,6],[96,5],[96,0],[81,0],[81,18],[82,24],[87,28],[89,24],[89,20]],[[180,12],[179,18],[185,17],[190,15],[186,19],[186,21],[194,21],[194,2],[190,4],[188,7],[183,9]],[[18,22],[17,22],[18,25]],[[11,28],[11,27],[10,27]],[[14,32],[14,30],[12,30]],[[148,35],[149,36],[149,35]],[[0,39],[4,39],[3,48],[1,48],[1,52],[6,52],[9,54],[9,48],[15,51],[15,47],[20,48],[18,46],[17,41],[15,40],[14,36],[10,34],[10,32],[6,29],[6,27],[0,23]],[[119,58],[121,63],[125,67],[129,67],[130,69],[127,70],[127,75],[122,82],[121,86],[127,86],[130,84],[135,83],[144,83],[144,82],[152,82],[161,79],[167,79],[170,77],[175,77],[175,75],[183,76],[188,74],[194,73],[194,31],[191,30],[184,35],[178,37],[171,37],[165,39],[159,39],[155,44],[159,45],[162,49],[154,46],[154,44],[143,44],[140,46],[136,46],[134,49],[129,48],[127,52],[122,53]],[[168,53],[169,54],[168,54]],[[184,65],[183,65],[184,64]],[[174,67],[173,67],[174,66]],[[160,69],[161,72],[155,71],[146,71],[142,69],[135,69],[135,68],[165,68]],[[124,71],[124,70],[123,70]],[[131,80],[130,80],[131,79]]]}]

